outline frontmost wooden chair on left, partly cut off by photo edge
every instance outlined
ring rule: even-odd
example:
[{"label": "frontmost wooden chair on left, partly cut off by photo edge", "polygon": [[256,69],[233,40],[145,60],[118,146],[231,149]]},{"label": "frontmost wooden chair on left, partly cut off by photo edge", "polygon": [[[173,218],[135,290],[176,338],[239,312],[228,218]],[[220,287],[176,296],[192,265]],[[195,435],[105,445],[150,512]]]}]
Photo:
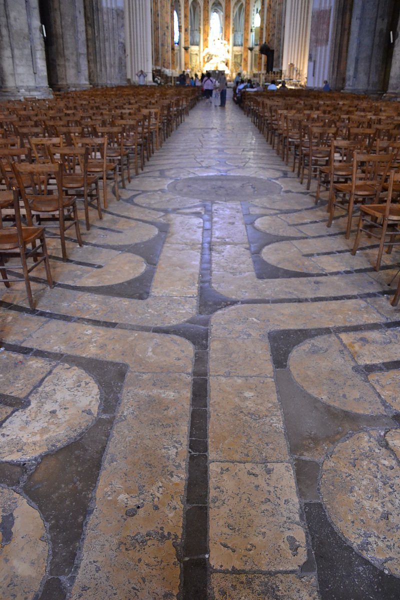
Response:
[{"label": "frontmost wooden chair on left, partly cut off by photo edge", "polygon": [[[29,306],[32,310],[35,308],[32,297],[31,282],[29,273],[35,269],[41,262],[44,262],[46,268],[47,283],[53,287],[52,274],[50,272],[49,257],[47,256],[46,237],[44,227],[28,226],[23,227],[20,215],[19,197],[17,191],[0,192],[0,207],[13,208],[14,227],[0,226],[0,275],[1,281],[5,287],[10,287],[10,281],[22,281],[20,278],[9,278],[7,271],[22,269],[23,280],[25,281],[26,293],[28,294]],[[37,245],[38,242],[38,245]],[[30,248],[29,248],[30,246]],[[12,263],[9,267],[5,265],[4,258],[17,256],[20,258],[20,265]],[[32,265],[28,266],[28,259],[33,259]]]}]

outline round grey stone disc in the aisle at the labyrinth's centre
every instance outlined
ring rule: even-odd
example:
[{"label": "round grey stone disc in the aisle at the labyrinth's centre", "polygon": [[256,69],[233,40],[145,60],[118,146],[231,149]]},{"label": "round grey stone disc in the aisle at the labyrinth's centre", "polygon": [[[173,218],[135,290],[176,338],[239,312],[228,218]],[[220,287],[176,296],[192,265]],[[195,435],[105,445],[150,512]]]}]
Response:
[{"label": "round grey stone disc in the aisle at the labyrinth's centre", "polygon": [[187,177],[173,181],[168,191],[198,198],[199,200],[248,200],[265,198],[279,194],[281,186],[276,182],[260,177],[242,177],[238,175],[207,175]]}]

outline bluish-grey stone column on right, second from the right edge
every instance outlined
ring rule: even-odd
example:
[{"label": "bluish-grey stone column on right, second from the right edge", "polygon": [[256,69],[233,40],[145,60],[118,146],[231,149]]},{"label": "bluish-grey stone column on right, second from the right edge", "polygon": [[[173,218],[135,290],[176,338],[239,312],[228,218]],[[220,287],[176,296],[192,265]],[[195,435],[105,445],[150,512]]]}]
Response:
[{"label": "bluish-grey stone column on right, second from the right edge", "polygon": [[354,0],[345,91],[383,92],[394,0]]}]

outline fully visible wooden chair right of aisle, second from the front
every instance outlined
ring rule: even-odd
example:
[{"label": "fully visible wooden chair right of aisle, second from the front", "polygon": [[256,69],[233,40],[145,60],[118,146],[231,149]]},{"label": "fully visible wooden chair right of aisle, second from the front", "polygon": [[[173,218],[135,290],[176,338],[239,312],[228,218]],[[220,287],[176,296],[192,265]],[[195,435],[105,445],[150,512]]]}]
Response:
[{"label": "fully visible wooden chair right of aisle, second from the front", "polygon": [[341,200],[338,202],[333,199],[327,227],[332,225],[335,206],[346,207],[348,217],[345,237],[346,239],[350,238],[354,205],[365,203],[368,199],[378,199],[392,160],[393,154],[363,154],[358,151],[354,152],[351,181],[333,185],[335,198],[338,194],[341,194]]}]

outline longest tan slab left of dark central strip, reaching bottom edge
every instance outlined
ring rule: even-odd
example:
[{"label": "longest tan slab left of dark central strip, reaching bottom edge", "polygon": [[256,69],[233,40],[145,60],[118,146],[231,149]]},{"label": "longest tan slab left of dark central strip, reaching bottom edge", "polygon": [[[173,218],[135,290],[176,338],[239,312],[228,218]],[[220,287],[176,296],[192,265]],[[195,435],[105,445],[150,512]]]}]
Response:
[{"label": "longest tan slab left of dark central strip, reaching bottom edge", "polygon": [[189,399],[188,376],[128,376],[74,600],[155,600],[178,593]]}]

